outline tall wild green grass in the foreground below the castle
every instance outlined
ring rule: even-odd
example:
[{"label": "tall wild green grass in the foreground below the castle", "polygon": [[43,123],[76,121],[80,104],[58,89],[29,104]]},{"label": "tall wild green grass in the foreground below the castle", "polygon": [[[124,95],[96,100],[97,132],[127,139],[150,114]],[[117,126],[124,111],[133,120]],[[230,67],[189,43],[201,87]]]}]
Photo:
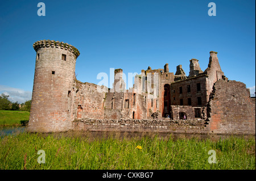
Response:
[{"label": "tall wild green grass in the foreground below the castle", "polygon": [[[255,169],[254,137],[211,141],[72,134],[5,136],[0,169]],[[39,150],[45,151],[46,163],[37,162]],[[216,151],[216,163],[208,162],[209,150]]]}]

